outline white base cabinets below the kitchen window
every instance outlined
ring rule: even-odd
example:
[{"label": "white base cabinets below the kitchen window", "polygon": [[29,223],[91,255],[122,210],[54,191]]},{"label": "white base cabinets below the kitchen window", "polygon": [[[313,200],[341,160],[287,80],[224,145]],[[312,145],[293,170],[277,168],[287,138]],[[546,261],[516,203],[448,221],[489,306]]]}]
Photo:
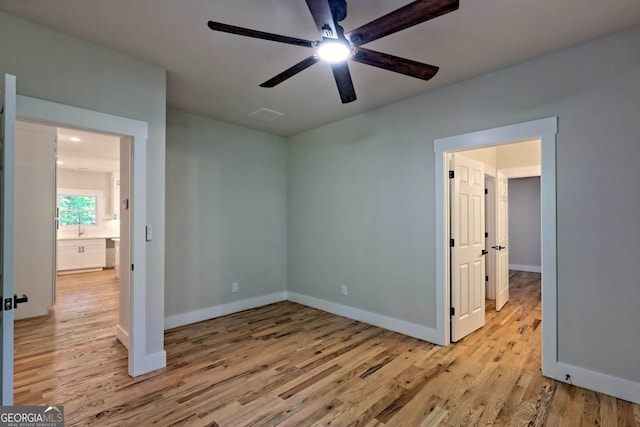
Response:
[{"label": "white base cabinets below the kitchen window", "polygon": [[106,263],[105,239],[58,241],[58,271],[102,269]]}]

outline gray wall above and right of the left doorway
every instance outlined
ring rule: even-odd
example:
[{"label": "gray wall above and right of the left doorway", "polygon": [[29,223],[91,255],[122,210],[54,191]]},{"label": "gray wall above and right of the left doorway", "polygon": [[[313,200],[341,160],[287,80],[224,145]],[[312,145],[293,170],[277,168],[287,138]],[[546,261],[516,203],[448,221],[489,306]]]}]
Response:
[{"label": "gray wall above and right of the left doorway", "polygon": [[0,73],[18,94],[149,123],[147,218],[148,355],[163,350],[165,71],[135,58],[0,13]]}]

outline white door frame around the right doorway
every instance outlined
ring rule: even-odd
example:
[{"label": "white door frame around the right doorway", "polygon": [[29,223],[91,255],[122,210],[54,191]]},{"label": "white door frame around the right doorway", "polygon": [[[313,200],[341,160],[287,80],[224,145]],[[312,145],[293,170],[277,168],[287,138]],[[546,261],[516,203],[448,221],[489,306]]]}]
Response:
[{"label": "white door frame around the right doorway", "polygon": [[[450,263],[448,206],[448,154],[509,142],[540,139],[542,203],[542,372],[557,377],[557,261],[556,261],[556,134],[558,118],[548,117],[510,126],[436,139],[436,336],[449,345]],[[445,172],[447,176],[445,177]]]}]

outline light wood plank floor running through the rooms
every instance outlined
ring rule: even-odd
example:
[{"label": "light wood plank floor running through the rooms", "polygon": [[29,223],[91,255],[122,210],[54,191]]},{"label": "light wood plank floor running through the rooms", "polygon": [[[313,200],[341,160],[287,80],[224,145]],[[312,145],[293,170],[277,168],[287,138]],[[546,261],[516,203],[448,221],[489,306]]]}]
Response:
[{"label": "light wood plank floor running through the rooms", "polygon": [[138,378],[117,286],[61,277],[54,313],[16,322],[16,405],[62,404],[66,425],[640,425],[640,405],[542,377],[538,274],[447,348],[283,302],[168,331],[167,368]]}]

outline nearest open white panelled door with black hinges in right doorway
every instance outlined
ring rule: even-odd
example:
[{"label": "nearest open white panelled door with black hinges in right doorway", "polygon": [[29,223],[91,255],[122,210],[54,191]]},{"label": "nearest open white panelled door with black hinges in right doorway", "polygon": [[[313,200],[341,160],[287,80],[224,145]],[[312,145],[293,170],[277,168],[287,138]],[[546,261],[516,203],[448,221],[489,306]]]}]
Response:
[{"label": "nearest open white panelled door with black hinges in right doorway", "polygon": [[451,162],[451,341],[484,326],[484,163]]}]

